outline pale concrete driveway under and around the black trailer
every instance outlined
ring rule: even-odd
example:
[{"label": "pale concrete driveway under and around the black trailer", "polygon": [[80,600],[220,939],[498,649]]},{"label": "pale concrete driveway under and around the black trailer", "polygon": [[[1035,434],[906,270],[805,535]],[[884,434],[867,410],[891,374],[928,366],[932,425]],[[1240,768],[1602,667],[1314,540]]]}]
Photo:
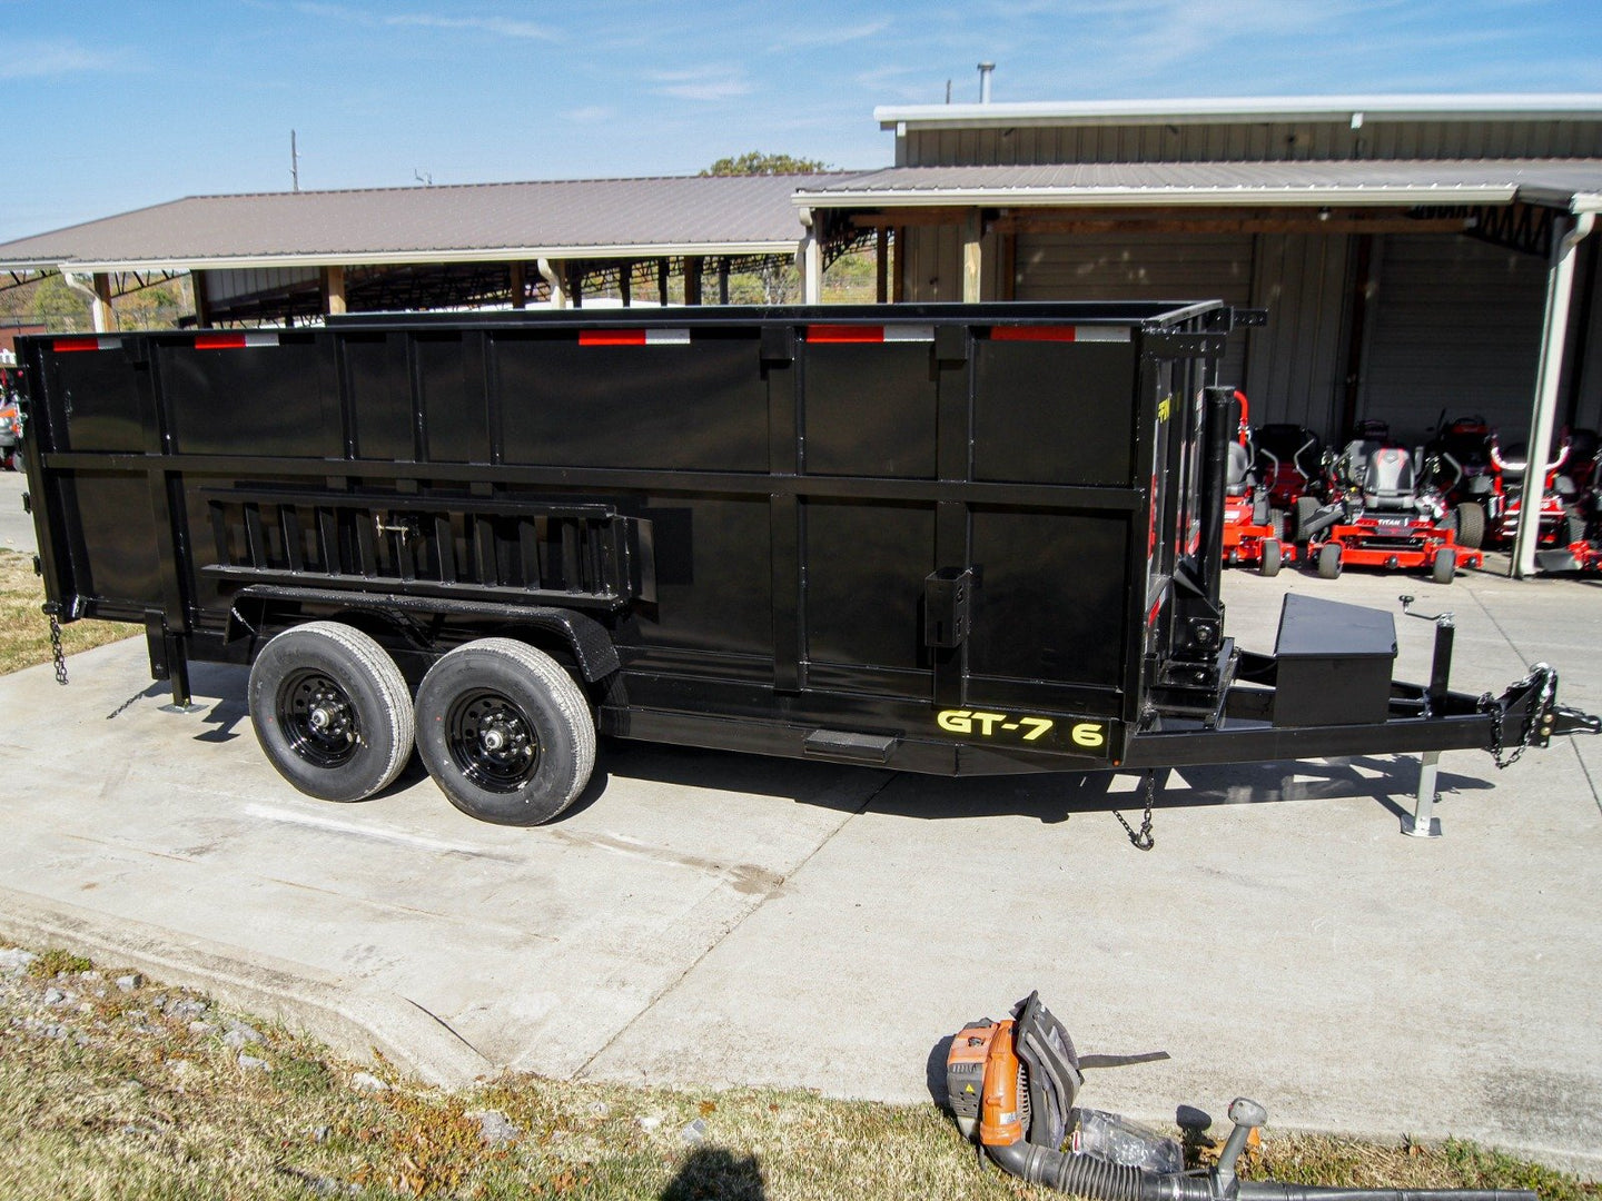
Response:
[{"label": "pale concrete driveway under and around the black trailer", "polygon": [[[1597,588],[1230,573],[1269,650],[1301,589],[1458,613],[1456,687],[1546,658],[1602,709]],[[1431,628],[1397,620],[1400,671]],[[256,749],[244,673],[160,711],[143,641],[0,679],[0,930],[277,1012],[423,1076],[795,1084],[928,1100],[939,1041],[1038,988],[1085,1103],[1171,1119],[1238,1094],[1270,1124],[1469,1135],[1602,1166],[1602,740],[1498,773],[1448,754],[1445,837],[1399,834],[1389,757],[1174,773],[1141,854],[1134,780],[950,781],[602,746],[553,826],[503,829],[415,773],[333,805]],[[123,701],[133,703],[107,719]]]}]

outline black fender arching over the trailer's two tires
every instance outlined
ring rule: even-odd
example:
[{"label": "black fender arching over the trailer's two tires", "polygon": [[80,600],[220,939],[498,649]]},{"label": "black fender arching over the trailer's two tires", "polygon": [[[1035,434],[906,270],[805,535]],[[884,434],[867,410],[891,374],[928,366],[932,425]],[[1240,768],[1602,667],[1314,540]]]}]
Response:
[{"label": "black fender arching over the trailer's two tires", "polygon": [[567,644],[574,652],[578,673],[585,677],[586,684],[599,684],[623,666],[607,628],[593,617],[575,613],[570,609],[399,596],[394,592],[375,594],[341,588],[288,588],[280,584],[252,584],[242,588],[229,610],[229,639],[256,634],[264,625],[271,623],[269,618],[274,610],[282,612],[288,605],[335,605],[344,610],[364,610],[412,621],[431,617],[453,617],[532,626],[554,634]]}]

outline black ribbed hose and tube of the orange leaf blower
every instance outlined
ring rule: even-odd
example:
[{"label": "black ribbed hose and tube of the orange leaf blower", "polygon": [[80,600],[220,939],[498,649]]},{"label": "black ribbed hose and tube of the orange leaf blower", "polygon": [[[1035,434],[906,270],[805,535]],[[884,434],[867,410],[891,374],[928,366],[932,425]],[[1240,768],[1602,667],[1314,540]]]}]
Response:
[{"label": "black ribbed hose and tube of the orange leaf blower", "polygon": [[1218,1196],[1211,1175],[1158,1175],[1027,1142],[985,1147],[985,1155],[1020,1180],[1091,1201],[1536,1201],[1520,1188],[1309,1188],[1272,1180],[1242,1180],[1230,1195]]}]

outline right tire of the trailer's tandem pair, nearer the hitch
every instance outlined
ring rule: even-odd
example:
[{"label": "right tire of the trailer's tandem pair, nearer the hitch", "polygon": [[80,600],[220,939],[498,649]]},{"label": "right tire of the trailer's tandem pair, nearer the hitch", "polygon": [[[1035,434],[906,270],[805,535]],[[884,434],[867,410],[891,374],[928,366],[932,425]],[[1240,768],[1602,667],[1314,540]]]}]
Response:
[{"label": "right tire of the trailer's tandem pair, nearer the hitch", "polygon": [[514,639],[485,637],[457,647],[423,677],[417,749],[463,813],[533,826],[567,809],[590,781],[596,727],[585,693],[556,660]]}]

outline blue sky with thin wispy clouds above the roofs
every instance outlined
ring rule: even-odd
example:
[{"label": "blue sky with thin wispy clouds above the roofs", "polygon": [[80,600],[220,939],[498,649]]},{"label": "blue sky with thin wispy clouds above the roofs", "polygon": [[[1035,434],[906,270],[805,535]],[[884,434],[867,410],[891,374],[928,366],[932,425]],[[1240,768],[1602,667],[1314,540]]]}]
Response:
[{"label": "blue sky with thin wispy clouds above the roofs", "polygon": [[1602,91],[1591,0],[0,0],[0,240],[199,192],[878,167],[876,104]]}]

